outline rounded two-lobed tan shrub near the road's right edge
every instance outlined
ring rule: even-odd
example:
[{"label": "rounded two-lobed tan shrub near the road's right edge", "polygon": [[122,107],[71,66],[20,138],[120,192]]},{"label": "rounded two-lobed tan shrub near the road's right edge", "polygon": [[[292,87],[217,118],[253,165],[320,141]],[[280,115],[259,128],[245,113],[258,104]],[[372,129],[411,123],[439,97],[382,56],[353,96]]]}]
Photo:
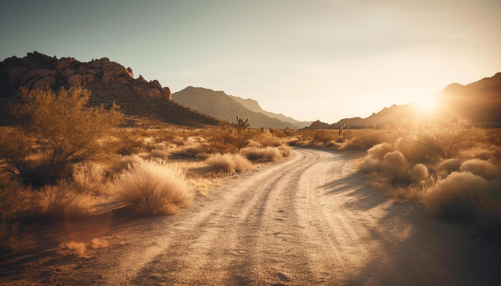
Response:
[{"label": "rounded two-lobed tan shrub near the road's right edge", "polygon": [[383,157],[381,170],[393,183],[419,183],[428,177],[428,169],[422,164],[410,167],[405,157],[399,151],[387,153]]}]

